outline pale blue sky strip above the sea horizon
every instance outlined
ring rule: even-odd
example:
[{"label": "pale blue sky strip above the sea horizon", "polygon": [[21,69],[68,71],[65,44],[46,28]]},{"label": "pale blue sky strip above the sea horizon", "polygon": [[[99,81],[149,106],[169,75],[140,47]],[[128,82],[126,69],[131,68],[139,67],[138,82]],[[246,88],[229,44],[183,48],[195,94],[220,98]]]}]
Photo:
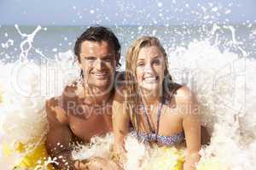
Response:
[{"label": "pale blue sky strip above the sea horizon", "polygon": [[0,0],[0,25],[255,23],[256,0]]}]

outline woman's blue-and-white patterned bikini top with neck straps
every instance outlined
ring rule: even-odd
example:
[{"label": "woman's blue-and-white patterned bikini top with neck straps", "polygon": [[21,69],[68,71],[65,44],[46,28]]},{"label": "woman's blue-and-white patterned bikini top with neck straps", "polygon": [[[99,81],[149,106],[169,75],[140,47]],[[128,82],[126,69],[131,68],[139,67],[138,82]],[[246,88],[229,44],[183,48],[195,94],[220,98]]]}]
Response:
[{"label": "woman's blue-and-white patterned bikini top with neck straps", "polygon": [[[178,86],[177,88],[179,88],[179,87],[180,86]],[[173,96],[173,94],[175,94],[177,88],[174,89],[174,91],[172,93],[172,96]],[[169,99],[172,99],[172,96]],[[145,119],[148,122],[148,127],[149,127],[149,130],[150,130],[150,133],[131,131],[131,135],[137,135],[137,138],[140,141],[148,142],[148,143],[155,142],[157,144],[164,144],[164,145],[169,145],[169,146],[182,143],[185,139],[185,135],[184,135],[183,131],[180,132],[180,133],[176,133],[174,135],[171,135],[171,136],[159,135],[161,110],[162,110],[162,107],[163,107],[164,104],[169,103],[170,100],[167,100],[167,99],[168,99],[168,96],[167,97],[164,96],[162,101],[160,102],[160,106],[158,107],[159,109],[158,109],[158,112],[157,112],[157,129],[156,129],[156,132],[154,133],[153,128],[150,125],[148,115],[147,115],[147,111],[146,111],[145,106],[143,105],[143,102],[142,102],[140,107],[143,108],[143,116],[145,117]]]}]

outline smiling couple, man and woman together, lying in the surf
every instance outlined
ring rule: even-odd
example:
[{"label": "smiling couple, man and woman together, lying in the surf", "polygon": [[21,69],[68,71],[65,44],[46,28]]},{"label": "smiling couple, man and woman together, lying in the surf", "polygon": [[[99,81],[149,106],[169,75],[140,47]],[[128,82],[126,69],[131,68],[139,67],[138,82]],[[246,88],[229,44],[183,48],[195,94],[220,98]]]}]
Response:
[{"label": "smiling couple, man and woman together, lying in the surf", "polygon": [[[168,56],[156,37],[139,37],[118,72],[120,44],[106,27],[90,27],[77,39],[74,54],[81,77],[61,96],[46,102],[47,150],[56,169],[123,169],[124,140],[132,133],[142,142],[165,146],[185,143],[184,170],[195,169],[207,131],[201,126],[195,95],[172,82]],[[72,159],[73,144],[113,131],[113,160]]]}]

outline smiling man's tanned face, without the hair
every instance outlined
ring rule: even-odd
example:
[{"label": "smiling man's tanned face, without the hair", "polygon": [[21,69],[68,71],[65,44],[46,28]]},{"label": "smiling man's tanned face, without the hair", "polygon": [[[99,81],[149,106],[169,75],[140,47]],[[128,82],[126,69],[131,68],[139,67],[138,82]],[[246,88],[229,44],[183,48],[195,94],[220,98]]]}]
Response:
[{"label": "smiling man's tanned face, without the hair", "polygon": [[113,83],[116,54],[108,42],[84,41],[81,44],[80,68],[91,87],[108,89]]}]

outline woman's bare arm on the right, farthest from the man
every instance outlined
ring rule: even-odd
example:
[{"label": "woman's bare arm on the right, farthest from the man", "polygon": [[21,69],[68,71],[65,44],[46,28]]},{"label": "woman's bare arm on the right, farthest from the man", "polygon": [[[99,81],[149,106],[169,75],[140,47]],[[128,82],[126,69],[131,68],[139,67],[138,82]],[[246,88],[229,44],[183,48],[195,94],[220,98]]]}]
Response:
[{"label": "woman's bare arm on the right, farthest from the man", "polygon": [[183,117],[183,130],[187,144],[187,156],[183,169],[194,170],[195,164],[200,161],[201,121],[197,101],[189,88],[183,87],[177,90],[177,107]]}]

